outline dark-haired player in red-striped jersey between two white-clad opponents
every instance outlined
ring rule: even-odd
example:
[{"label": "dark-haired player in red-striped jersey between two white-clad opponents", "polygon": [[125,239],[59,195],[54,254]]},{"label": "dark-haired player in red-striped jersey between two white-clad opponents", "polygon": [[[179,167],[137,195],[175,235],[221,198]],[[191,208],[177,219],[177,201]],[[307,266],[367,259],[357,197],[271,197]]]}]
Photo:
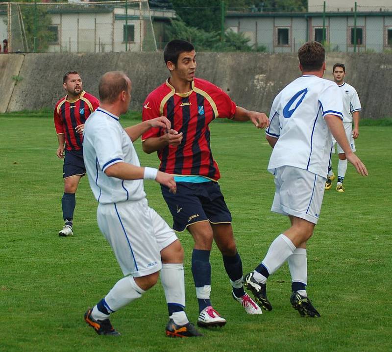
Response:
[{"label": "dark-haired player in red-striped jersey between two white-clad opponents", "polygon": [[248,111],[236,104],[213,83],[195,78],[196,51],[183,40],[165,47],[164,58],[170,78],[152,91],[144,104],[143,120],[166,116],[172,128],[151,128],[143,136],[143,150],[158,152],[160,171],[174,175],[177,192],[162,186],[162,194],[173,216],[173,228],[188,229],[195,247],[192,273],[199,304],[198,325],[223,326],[226,320],[212,307],[210,251],[215,240],[232,285],[232,294],[247,313],[261,314],[260,307],[245,293],[231,214],[218,184],[221,177],[210,148],[209,124],[216,118],[252,121],[257,128],[268,126],[264,113]]}]

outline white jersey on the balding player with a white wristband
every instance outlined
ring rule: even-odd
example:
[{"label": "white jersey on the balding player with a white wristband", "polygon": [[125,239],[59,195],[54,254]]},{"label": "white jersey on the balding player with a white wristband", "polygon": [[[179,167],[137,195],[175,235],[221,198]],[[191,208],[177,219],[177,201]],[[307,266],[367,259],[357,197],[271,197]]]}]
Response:
[{"label": "white jersey on the balding player with a white wristband", "polygon": [[116,163],[140,166],[140,162],[119,118],[100,107],[84,124],[83,158],[90,187],[99,203],[137,201],[146,197],[142,179],[122,180],[105,174],[105,170]]}]

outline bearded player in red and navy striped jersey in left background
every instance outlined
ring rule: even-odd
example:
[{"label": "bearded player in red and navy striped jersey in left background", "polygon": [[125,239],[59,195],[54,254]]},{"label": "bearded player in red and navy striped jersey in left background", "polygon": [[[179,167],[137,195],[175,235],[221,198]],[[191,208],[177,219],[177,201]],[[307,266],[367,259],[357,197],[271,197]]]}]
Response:
[{"label": "bearded player in red and navy striped jersey in left background", "polygon": [[64,75],[63,88],[67,95],[57,101],[53,115],[58,139],[57,156],[64,158],[61,206],[65,225],[58,234],[69,236],[73,234],[75,193],[80,178],[86,175],[82,150],[84,123],[99,106],[99,100],[83,90],[82,79],[76,71]]}]

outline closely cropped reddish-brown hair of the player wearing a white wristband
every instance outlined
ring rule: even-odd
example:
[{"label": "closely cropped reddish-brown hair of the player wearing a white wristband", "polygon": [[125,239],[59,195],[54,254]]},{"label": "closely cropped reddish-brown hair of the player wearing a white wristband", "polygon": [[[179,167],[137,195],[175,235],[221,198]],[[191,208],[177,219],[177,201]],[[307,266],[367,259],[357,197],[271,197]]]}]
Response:
[{"label": "closely cropped reddish-brown hair of the player wearing a white wristband", "polygon": [[100,101],[114,102],[122,91],[128,90],[127,75],[123,71],[105,73],[99,80],[98,92]]}]

